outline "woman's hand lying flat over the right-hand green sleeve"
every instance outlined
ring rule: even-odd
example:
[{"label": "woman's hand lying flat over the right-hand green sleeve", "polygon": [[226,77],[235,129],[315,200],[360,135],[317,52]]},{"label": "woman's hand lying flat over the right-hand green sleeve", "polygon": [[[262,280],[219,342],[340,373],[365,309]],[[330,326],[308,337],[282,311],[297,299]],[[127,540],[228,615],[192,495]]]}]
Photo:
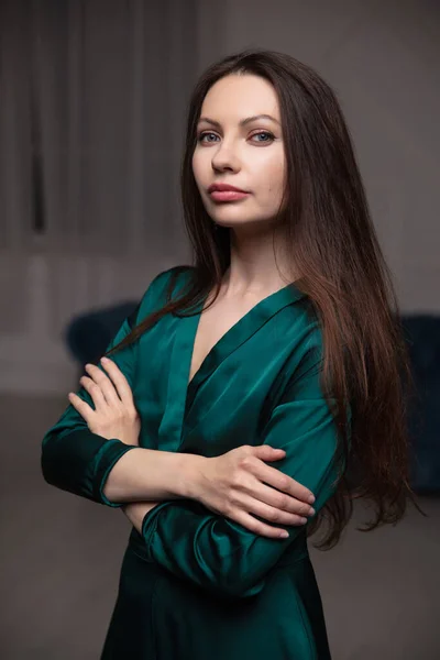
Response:
[{"label": "woman's hand lying flat over the right-hand green sleeve", "polygon": [[[242,446],[199,464],[195,498],[254,534],[286,537],[285,530],[261,522],[299,526],[312,516],[312,493],[264,461],[279,461],[286,452],[268,444]],[[267,484],[267,485],[266,485]]]}]

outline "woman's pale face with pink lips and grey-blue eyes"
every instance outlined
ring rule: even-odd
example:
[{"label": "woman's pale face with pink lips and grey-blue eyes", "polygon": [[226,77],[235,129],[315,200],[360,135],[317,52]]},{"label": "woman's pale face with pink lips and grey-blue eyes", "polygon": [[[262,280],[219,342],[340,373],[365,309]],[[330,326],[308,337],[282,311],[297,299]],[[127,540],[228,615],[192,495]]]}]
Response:
[{"label": "woman's pale face with pink lips and grey-blue eyes", "polygon": [[[197,127],[193,170],[205,208],[218,224],[239,228],[274,220],[283,197],[285,154],[271,82],[229,75],[210,88]],[[211,189],[220,184],[244,194]]]}]

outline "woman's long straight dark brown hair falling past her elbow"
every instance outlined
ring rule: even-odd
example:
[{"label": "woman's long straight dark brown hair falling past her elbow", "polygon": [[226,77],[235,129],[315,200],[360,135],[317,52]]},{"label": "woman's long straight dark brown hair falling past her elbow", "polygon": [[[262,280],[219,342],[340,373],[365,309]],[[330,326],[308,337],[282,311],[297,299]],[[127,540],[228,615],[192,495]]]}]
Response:
[{"label": "woman's long straight dark brown hair falling past her elbow", "polygon": [[[275,52],[252,50],[210,66],[189,105],[182,166],[184,218],[193,245],[194,276],[178,299],[170,283],[165,306],[118,346],[135,341],[166,314],[185,316],[209,292],[217,298],[230,264],[229,228],[208,216],[193,174],[197,122],[210,87],[231,74],[268,80],[278,97],[286,155],[284,210],[295,285],[310,299],[323,333],[324,392],[337,400],[339,455],[345,466],[333,497],[319,512],[319,548],[334,546],[353,513],[353,499],[374,505],[363,531],[399,520],[414,495],[408,477],[406,393],[410,371],[398,306],[372,223],[352,141],[332,89],[310,67]],[[178,276],[176,268],[175,276]],[[346,402],[352,409],[351,438]],[[355,473],[354,482],[350,482]],[[417,506],[417,504],[416,504]],[[418,508],[418,507],[417,507]]]}]

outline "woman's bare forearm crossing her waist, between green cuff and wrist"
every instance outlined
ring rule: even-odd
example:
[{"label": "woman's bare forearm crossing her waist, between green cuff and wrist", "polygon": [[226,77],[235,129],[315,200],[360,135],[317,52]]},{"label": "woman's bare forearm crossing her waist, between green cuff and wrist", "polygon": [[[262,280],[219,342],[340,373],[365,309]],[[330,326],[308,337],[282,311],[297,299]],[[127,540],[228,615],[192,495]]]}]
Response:
[{"label": "woman's bare forearm crossing her waist, between green cuff and wrist", "polygon": [[132,449],[109,472],[103,494],[118,503],[195,498],[205,460],[194,454]]}]

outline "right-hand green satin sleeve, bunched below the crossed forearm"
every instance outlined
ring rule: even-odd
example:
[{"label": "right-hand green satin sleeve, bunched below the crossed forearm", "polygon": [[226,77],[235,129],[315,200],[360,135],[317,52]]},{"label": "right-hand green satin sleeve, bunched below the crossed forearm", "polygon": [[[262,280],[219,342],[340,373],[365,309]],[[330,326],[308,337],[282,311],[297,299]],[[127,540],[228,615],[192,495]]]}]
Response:
[{"label": "right-hand green satin sleeve, bunched below the crossed forearm", "polygon": [[[333,494],[337,477],[336,424],[321,393],[318,364],[304,364],[304,375],[274,408],[262,442],[286,451],[272,465],[311,490],[317,512]],[[288,539],[270,539],[199,503],[168,501],[146,514],[142,536],[150,561],[211,593],[246,597],[263,588],[268,571],[305,534],[304,527],[285,529]]]}]

